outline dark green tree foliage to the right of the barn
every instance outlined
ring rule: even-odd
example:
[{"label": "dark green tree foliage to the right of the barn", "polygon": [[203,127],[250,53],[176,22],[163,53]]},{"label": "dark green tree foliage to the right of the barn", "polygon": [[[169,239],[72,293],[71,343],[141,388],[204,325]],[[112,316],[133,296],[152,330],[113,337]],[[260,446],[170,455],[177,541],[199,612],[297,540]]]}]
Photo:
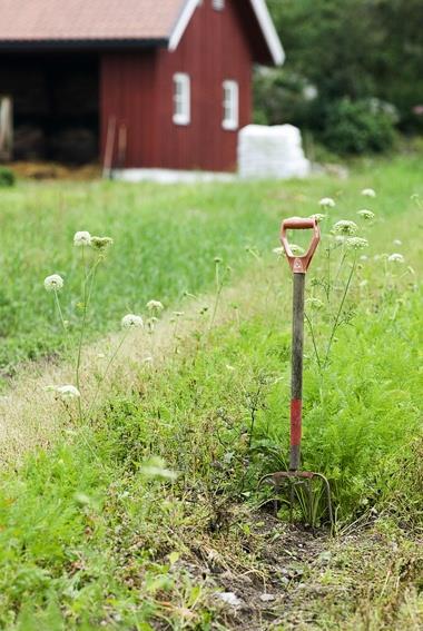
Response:
[{"label": "dark green tree foliage to the right of the barn", "polygon": [[340,152],[388,148],[394,122],[423,130],[423,0],[268,4],[287,60],[257,73],[259,122],[293,122]]}]

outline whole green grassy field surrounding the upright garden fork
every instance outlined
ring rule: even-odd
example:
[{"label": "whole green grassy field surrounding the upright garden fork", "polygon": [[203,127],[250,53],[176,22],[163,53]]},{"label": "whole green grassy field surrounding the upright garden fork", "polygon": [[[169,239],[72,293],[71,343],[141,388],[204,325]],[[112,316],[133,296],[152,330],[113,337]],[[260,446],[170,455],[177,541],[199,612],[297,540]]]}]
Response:
[{"label": "whole green grassy field surrounding the upright garden fork", "polygon": [[[66,404],[51,444],[2,472],[0,628],[421,628],[420,167],[411,156],[361,164],[345,181],[21,183],[2,194],[4,375],[29,357],[70,352],[42,280],[65,277],[77,332],[78,229],[115,239],[97,279],[92,338],[127,312],[144,314],[150,298],[185,315],[164,317],[160,361],[130,366],[129,388],[117,374],[82,422]],[[365,187],[377,197],[362,197]],[[329,479],[334,538],[322,499],[316,528],[299,510],[294,526],[257,489],[287,452],[291,278],[272,249],[281,219],[318,213],[325,196],[336,207],[307,284],[303,459]],[[328,259],[333,224],[361,224],[365,207],[375,213],[361,226],[368,248],[341,245]],[[404,262],[390,262],[394,253]],[[220,272],[232,267],[222,294],[216,256]]]}]

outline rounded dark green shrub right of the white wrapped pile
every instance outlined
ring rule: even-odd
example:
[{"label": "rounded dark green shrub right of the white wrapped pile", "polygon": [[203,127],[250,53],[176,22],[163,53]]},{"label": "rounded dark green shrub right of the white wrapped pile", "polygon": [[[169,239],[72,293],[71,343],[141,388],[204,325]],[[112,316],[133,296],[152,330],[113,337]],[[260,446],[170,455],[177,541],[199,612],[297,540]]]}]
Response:
[{"label": "rounded dark green shrub right of the white wrapped pile", "polygon": [[387,103],[344,98],[327,107],[322,140],[336,154],[386,151],[395,141],[395,120]]}]

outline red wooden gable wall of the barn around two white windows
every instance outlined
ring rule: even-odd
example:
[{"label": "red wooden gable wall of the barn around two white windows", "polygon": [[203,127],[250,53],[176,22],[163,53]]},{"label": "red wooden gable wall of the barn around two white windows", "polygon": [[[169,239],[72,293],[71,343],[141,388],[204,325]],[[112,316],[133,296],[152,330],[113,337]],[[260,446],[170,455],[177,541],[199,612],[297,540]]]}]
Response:
[{"label": "red wooden gable wall of the barn around two white windows", "polygon": [[[108,52],[100,65],[102,150],[108,120],[128,129],[126,167],[234,170],[237,131],[222,128],[223,81],[239,83],[239,128],[252,115],[252,40],[243,0],[203,0],[175,52]],[[245,4],[244,4],[245,7]],[[173,76],[191,79],[191,121],[173,121]]]}]

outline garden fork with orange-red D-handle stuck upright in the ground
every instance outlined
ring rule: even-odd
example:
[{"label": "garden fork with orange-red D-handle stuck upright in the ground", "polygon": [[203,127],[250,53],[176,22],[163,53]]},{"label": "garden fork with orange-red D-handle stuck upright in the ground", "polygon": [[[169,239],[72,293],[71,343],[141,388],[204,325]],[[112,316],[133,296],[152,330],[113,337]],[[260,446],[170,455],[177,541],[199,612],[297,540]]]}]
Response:
[{"label": "garden fork with orange-red D-handle stuck upright in the ground", "polygon": [[[288,243],[287,230],[306,229],[313,230],[313,237],[309,243],[308,250],[303,256],[295,256]],[[309,503],[311,522],[313,522],[312,481],[319,480],[323,483],[324,491],[326,493],[328,517],[331,525],[333,525],[331,487],[327,479],[322,473],[301,471],[305,275],[309,264],[312,263],[312,258],[316,252],[319,240],[321,231],[315,219],[292,217],[291,219],[285,219],[282,224],[281,241],[294,277],[289,469],[288,471],[277,471],[276,473],[265,475],[262,477],[259,484],[263,482],[270,482],[276,492],[278,492],[283,483],[289,483],[291,520],[293,515],[296,486],[305,485]]]}]

